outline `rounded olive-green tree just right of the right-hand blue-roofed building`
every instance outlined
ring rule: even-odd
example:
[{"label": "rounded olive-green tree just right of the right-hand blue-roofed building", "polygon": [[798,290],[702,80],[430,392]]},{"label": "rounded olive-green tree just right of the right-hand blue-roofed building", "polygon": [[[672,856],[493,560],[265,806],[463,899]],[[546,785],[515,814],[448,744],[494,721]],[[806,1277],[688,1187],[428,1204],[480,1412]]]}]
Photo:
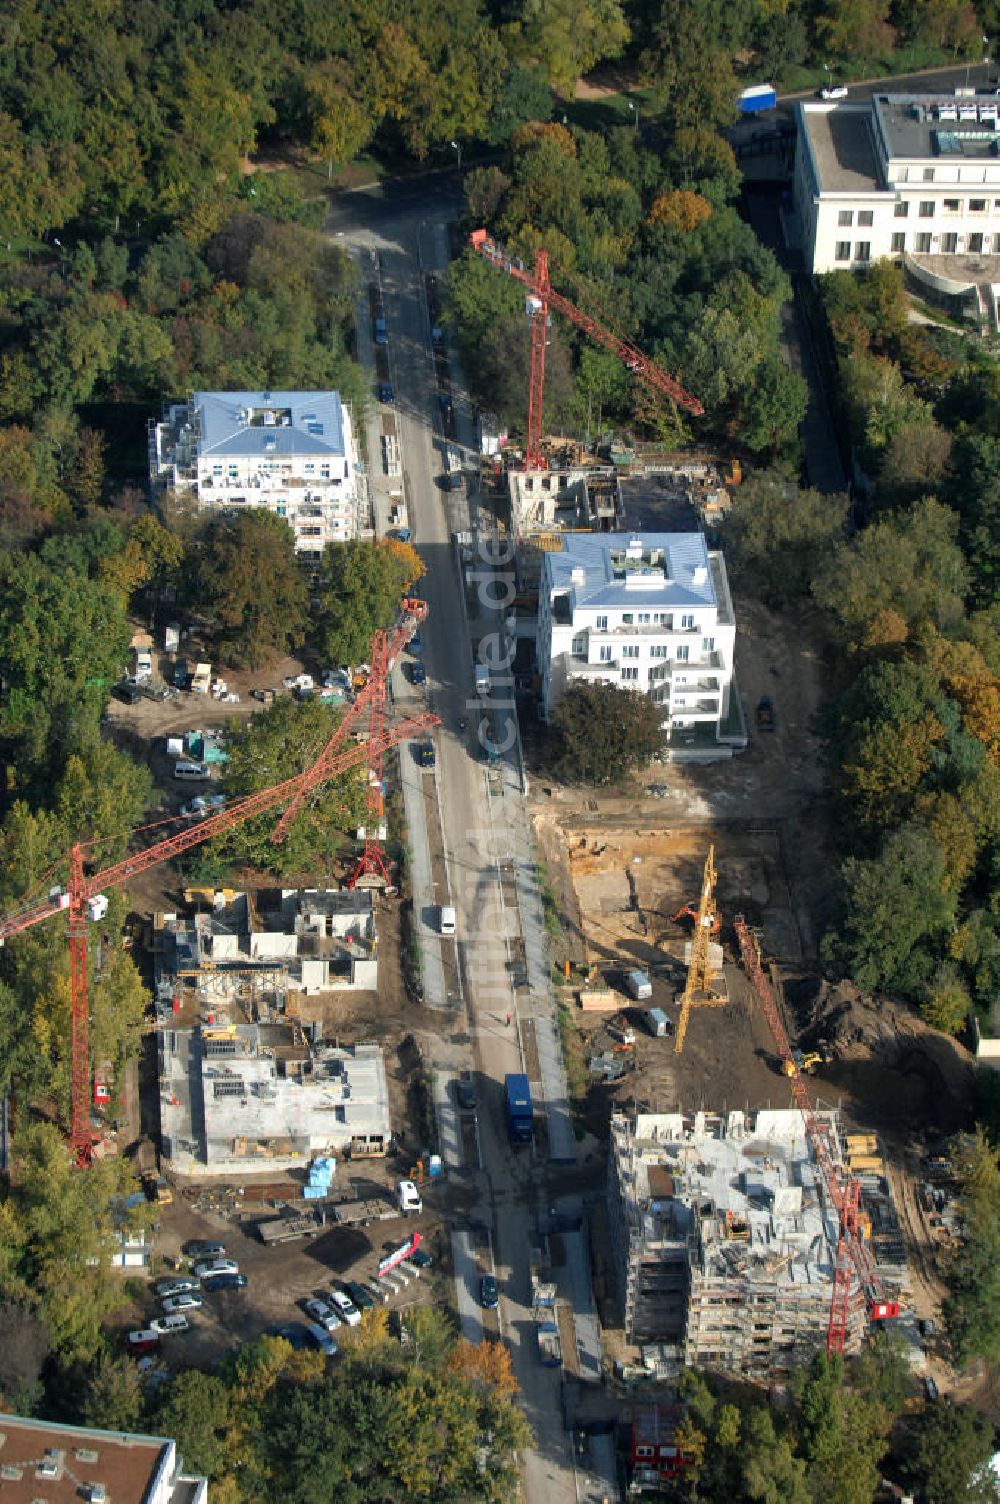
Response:
[{"label": "rounded olive-green tree just right of the right-hand blue-roofed building", "polygon": [[847,496],[800,490],[780,471],[758,471],[734,489],[723,540],[737,576],[768,605],[786,606],[809,594],[845,519]]}]

